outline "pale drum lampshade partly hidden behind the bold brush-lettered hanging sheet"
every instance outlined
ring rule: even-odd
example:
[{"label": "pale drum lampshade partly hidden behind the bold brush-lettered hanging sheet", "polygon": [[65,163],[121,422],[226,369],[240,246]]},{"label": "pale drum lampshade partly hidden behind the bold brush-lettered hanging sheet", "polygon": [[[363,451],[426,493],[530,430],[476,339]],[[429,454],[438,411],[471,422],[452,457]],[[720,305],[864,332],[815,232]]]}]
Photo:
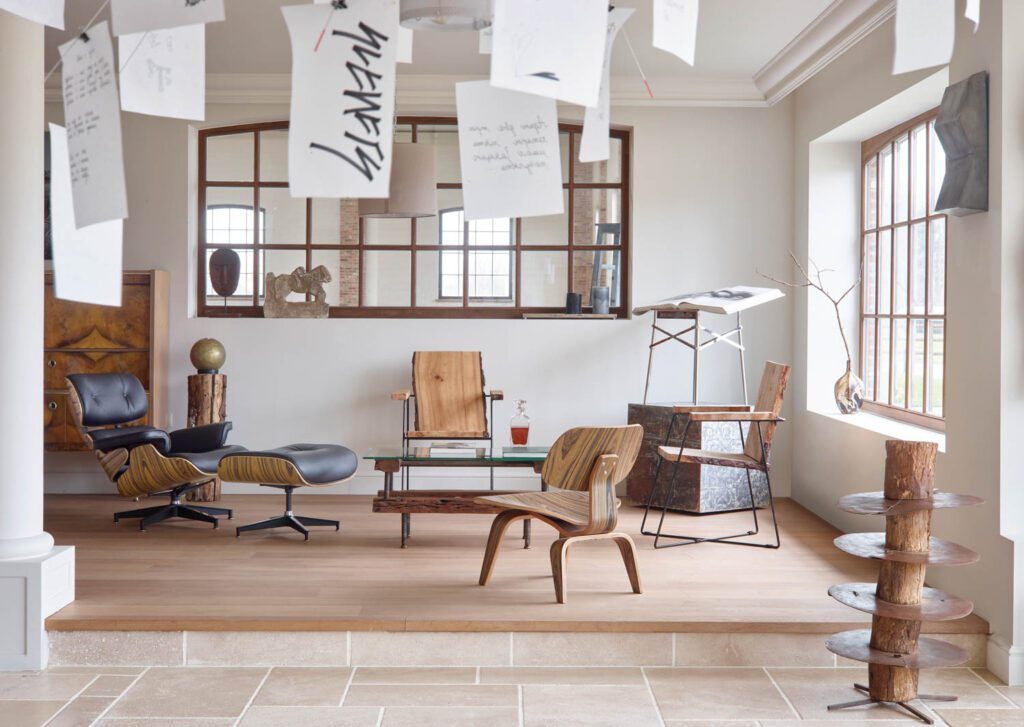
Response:
[{"label": "pale drum lampshade partly hidden behind the bold brush-lettered hanging sheet", "polygon": [[436,214],[434,147],[431,144],[394,144],[390,194],[383,200],[359,200],[359,216],[434,217]]}]

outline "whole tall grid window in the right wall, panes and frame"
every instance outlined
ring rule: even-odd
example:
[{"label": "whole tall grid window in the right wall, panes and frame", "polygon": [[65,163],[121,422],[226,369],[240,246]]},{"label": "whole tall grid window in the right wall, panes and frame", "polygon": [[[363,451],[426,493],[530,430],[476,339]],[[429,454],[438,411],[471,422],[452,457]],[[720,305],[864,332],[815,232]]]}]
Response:
[{"label": "whole tall grid window in the right wall, panes and frame", "polygon": [[943,428],[946,217],[935,212],[945,155],[935,111],[862,145],[864,409]]}]

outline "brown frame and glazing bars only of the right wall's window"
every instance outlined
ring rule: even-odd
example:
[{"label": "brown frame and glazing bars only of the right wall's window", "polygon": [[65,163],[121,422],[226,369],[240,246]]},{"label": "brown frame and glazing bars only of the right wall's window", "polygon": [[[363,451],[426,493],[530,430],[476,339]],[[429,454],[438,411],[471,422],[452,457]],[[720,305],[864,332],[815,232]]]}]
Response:
[{"label": "brown frame and glazing bars only of the right wall's window", "polygon": [[[868,399],[865,396],[864,401],[863,401],[863,405],[862,405],[862,410],[865,411],[865,412],[870,412],[870,413],[878,414],[878,415],[881,415],[881,416],[884,416],[884,417],[888,417],[890,419],[896,419],[896,420],[899,420],[899,421],[903,421],[903,422],[906,422],[908,424],[914,424],[914,425],[918,425],[918,426],[926,427],[928,429],[934,429],[934,430],[938,430],[938,431],[945,431],[945,412],[946,412],[946,395],[945,395],[946,394],[946,376],[945,376],[945,371],[946,371],[946,359],[947,359],[946,352],[949,350],[948,349],[949,329],[948,329],[948,326],[945,325],[945,319],[946,319],[946,298],[947,298],[947,287],[946,287],[945,283],[946,283],[946,281],[948,281],[948,264],[947,264],[948,263],[948,258],[945,255],[943,255],[943,260],[944,260],[943,274],[946,276],[946,281],[943,282],[943,287],[942,287],[942,291],[943,291],[942,313],[941,314],[940,313],[932,313],[932,312],[930,312],[930,294],[931,294],[930,283],[931,283],[931,279],[932,279],[932,274],[931,274],[931,246],[932,246],[931,228],[932,228],[933,222],[935,222],[936,220],[939,220],[939,219],[943,220],[943,227],[944,227],[944,230],[945,230],[943,243],[945,245],[946,250],[948,251],[948,249],[949,249],[949,226],[948,226],[948,223],[947,223],[946,215],[941,214],[941,213],[937,213],[937,212],[935,212],[934,210],[931,209],[931,205],[932,205],[932,179],[931,179],[931,176],[932,176],[932,167],[931,167],[931,164],[930,164],[930,160],[931,160],[931,151],[932,151],[931,149],[931,144],[933,143],[933,141],[932,141],[931,130],[928,129],[927,127],[926,127],[926,134],[925,134],[925,144],[926,144],[925,147],[926,147],[926,156],[928,157],[928,159],[926,160],[926,163],[925,163],[925,185],[926,186],[925,186],[925,214],[924,214],[924,216],[923,217],[914,217],[913,216],[912,179],[913,179],[913,161],[914,160],[913,160],[913,149],[912,149],[913,144],[912,144],[912,142],[908,143],[908,146],[907,146],[907,175],[908,175],[908,177],[907,177],[907,185],[906,185],[906,195],[907,195],[906,219],[902,220],[900,222],[896,221],[896,195],[895,195],[895,189],[896,189],[896,168],[895,168],[895,165],[896,165],[896,146],[895,146],[895,142],[898,141],[901,137],[906,137],[907,139],[910,139],[910,134],[913,132],[914,129],[916,129],[918,127],[920,127],[923,124],[928,125],[930,123],[934,123],[935,118],[938,115],[938,111],[939,111],[938,108],[935,108],[935,109],[932,109],[930,111],[927,111],[924,114],[921,114],[921,115],[919,115],[919,116],[916,116],[916,117],[914,117],[914,118],[912,118],[912,119],[910,119],[910,120],[908,120],[906,122],[903,122],[902,124],[899,124],[898,126],[895,126],[892,129],[889,129],[888,131],[884,131],[881,134],[878,134],[878,135],[876,135],[876,136],[873,136],[873,137],[871,137],[871,138],[869,138],[869,139],[867,139],[867,140],[865,140],[865,141],[863,141],[861,143],[861,149],[860,149],[861,151],[861,154],[860,154],[860,175],[859,175],[859,178],[860,178],[860,214],[857,215],[857,219],[858,219],[858,222],[859,222],[858,234],[860,236],[860,259],[861,259],[861,261],[863,261],[864,263],[866,263],[867,250],[866,250],[865,244],[866,244],[867,237],[869,234],[873,234],[874,236],[874,241],[876,241],[876,243],[874,243],[874,246],[876,246],[874,247],[874,250],[876,250],[876,253],[874,253],[874,267],[876,267],[876,272],[874,272],[874,286],[873,286],[873,288],[874,288],[874,307],[873,307],[873,312],[871,312],[871,313],[866,313],[864,311],[864,290],[865,290],[865,285],[864,285],[864,280],[863,280],[864,276],[862,276],[861,285],[860,285],[859,308],[858,308],[858,315],[857,315],[857,324],[858,324],[858,326],[857,326],[857,336],[858,336],[858,340],[860,341],[860,345],[858,347],[859,350],[858,350],[858,356],[857,356],[857,361],[858,361],[858,367],[857,368],[858,368],[858,372],[859,372],[861,380],[865,381],[865,394],[866,394],[866,378],[864,376],[864,374],[865,374],[865,360],[864,360],[865,342],[863,340],[863,331],[864,331],[865,320],[873,320],[874,322],[874,324],[873,324],[874,325],[874,355],[872,357],[871,365],[873,367],[873,369],[872,369],[872,381],[873,381],[873,384],[874,384],[876,391],[878,391],[879,385],[880,385],[880,383],[882,383],[882,382],[879,381],[879,378],[878,378],[878,376],[879,376],[879,349],[880,349],[879,339],[878,339],[878,333],[879,333],[879,324],[878,324],[878,322],[880,319],[888,319],[890,322],[890,324],[889,324],[889,357],[890,358],[889,358],[889,367],[888,367],[889,368],[888,379],[887,379],[886,382],[884,382],[884,384],[886,386],[886,399],[887,399],[888,402],[876,401],[873,399]],[[887,146],[891,149],[890,159],[891,159],[891,163],[893,165],[893,170],[892,170],[892,185],[893,185],[893,189],[892,189],[892,191],[890,194],[890,205],[891,205],[891,208],[890,208],[890,214],[889,214],[889,224],[883,225],[882,224],[882,168],[881,168],[882,167],[882,164],[881,164],[882,157],[881,157],[881,153],[883,151],[885,151],[885,148]],[[865,219],[865,214],[866,214],[866,209],[867,209],[867,206],[866,206],[866,202],[867,202],[866,167],[867,167],[867,164],[872,159],[876,160],[876,165],[874,165],[874,174],[876,174],[876,178],[874,178],[874,195],[876,195],[876,201],[874,201],[874,203],[876,203],[874,204],[874,225],[872,227],[867,227],[867,225],[866,225],[867,221]],[[910,312],[910,296],[912,295],[911,285],[910,284],[911,284],[912,279],[913,279],[913,271],[912,271],[911,261],[910,261],[910,255],[911,255],[911,252],[912,252],[912,240],[911,240],[910,232],[911,232],[911,229],[913,228],[913,225],[921,224],[921,223],[925,224],[925,293],[924,293],[924,296],[925,296],[925,298],[924,298],[924,300],[925,300],[925,308],[924,308],[924,312],[923,313],[912,313],[912,312]],[[879,254],[879,244],[880,244],[880,241],[881,241],[881,234],[880,233],[882,231],[885,231],[885,230],[889,230],[890,231],[890,236],[889,236],[890,245],[893,246],[893,250],[894,250],[895,240],[896,240],[896,229],[898,227],[905,227],[905,229],[906,229],[906,247],[907,247],[907,265],[906,265],[906,274],[907,274],[906,295],[907,295],[907,303],[906,303],[906,312],[904,312],[904,313],[896,313],[895,312],[895,309],[896,309],[896,306],[895,306],[895,295],[896,295],[896,283],[895,283],[895,277],[896,277],[896,256],[895,256],[895,254],[893,254],[893,252],[890,252],[890,255],[889,255],[889,264],[890,264],[890,269],[889,269],[889,312],[888,313],[880,313],[879,312],[879,295],[880,295],[880,291],[879,291],[879,261],[880,261],[880,258],[881,258],[881,255]],[[924,377],[923,391],[922,391],[922,410],[923,411],[915,411],[915,410],[910,409],[911,397],[912,397],[911,387],[910,387],[910,381],[911,381],[911,378],[912,378],[911,361],[912,361],[912,349],[913,349],[913,346],[912,346],[912,343],[911,343],[911,337],[910,337],[910,324],[909,324],[909,322],[911,319],[912,320],[918,320],[918,319],[923,320],[924,322],[924,328],[925,328],[925,340],[924,340],[924,351],[923,351],[924,367],[923,367],[923,372],[922,372],[922,375]],[[897,322],[897,320],[906,322],[905,325],[907,327],[907,333],[906,333],[906,351],[905,351],[906,360],[905,360],[905,364],[904,364],[904,367],[905,367],[904,368],[904,377],[905,377],[905,382],[904,382],[904,398],[905,398],[905,400],[904,400],[904,405],[903,407],[900,407],[899,404],[892,403],[892,400],[893,400],[893,389],[894,389],[894,386],[893,386],[893,381],[894,381],[893,371],[894,371],[894,367],[892,366],[892,364],[895,360],[894,353],[895,353],[895,342],[896,342],[896,331],[895,331],[896,327],[894,326],[894,322]],[[930,382],[929,382],[929,376],[928,376],[928,366],[929,366],[929,355],[931,353],[931,350],[930,350],[931,349],[931,346],[930,346],[931,342],[930,342],[929,331],[930,331],[930,322],[932,322],[932,320],[941,320],[943,323],[942,416],[937,416],[937,415],[934,415],[934,414],[928,414],[927,413],[929,396],[931,394],[931,392],[929,390],[929,383]]]}]

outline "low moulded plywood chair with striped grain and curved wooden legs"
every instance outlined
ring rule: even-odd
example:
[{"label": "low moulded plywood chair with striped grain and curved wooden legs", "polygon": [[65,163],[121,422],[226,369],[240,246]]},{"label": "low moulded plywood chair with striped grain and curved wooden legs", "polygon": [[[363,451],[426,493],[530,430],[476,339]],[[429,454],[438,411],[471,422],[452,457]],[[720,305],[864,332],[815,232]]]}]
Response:
[{"label": "low moulded plywood chair with striped grain and curved wooden legs", "polygon": [[544,461],[541,476],[549,490],[477,498],[478,502],[507,508],[495,517],[480,569],[480,585],[486,586],[505,531],[516,520],[536,518],[556,530],[551,545],[551,574],[555,597],[565,603],[565,562],[569,545],[610,539],[618,546],[634,593],[640,593],[636,546],[625,532],[616,532],[622,482],[640,452],[643,427],[578,427],[562,434]]}]

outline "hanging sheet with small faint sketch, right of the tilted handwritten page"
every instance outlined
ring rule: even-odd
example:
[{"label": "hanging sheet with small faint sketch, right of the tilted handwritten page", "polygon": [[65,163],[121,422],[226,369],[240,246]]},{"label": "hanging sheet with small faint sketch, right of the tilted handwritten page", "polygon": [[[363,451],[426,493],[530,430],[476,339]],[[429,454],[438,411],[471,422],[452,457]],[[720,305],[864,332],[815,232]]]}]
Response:
[{"label": "hanging sheet with small faint sketch, right of the tilted handwritten page", "polygon": [[118,38],[121,108],[172,119],[206,116],[206,26]]}]

